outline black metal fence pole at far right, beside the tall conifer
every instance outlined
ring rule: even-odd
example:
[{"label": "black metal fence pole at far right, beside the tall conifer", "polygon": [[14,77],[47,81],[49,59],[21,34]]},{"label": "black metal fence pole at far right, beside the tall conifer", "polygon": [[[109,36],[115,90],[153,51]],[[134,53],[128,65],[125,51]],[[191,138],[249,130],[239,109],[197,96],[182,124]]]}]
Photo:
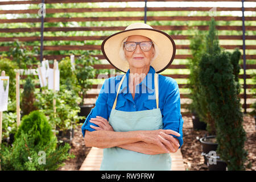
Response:
[{"label": "black metal fence pole at far right, beside the tall conifer", "polygon": [[246,57],[245,57],[245,8],[243,7],[243,1],[242,0],[242,29],[243,29],[243,100],[244,100],[244,113],[246,114]]}]

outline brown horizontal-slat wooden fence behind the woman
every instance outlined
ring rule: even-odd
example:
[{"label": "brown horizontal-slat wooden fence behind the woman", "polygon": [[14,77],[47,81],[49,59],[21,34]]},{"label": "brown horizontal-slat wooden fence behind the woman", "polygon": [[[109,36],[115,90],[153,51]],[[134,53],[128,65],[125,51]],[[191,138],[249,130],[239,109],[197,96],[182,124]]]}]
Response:
[{"label": "brown horizontal-slat wooden fence behind the woman", "polygon": [[[179,1],[183,2],[183,0],[168,0],[168,1],[162,1],[162,2],[171,2],[171,1]],[[201,2],[201,0],[187,0],[189,2]],[[204,2],[225,2],[225,1],[230,1],[230,0],[224,0],[224,1],[216,1],[216,0],[204,0]],[[240,0],[232,0],[233,2],[241,2]],[[86,1],[81,1],[81,0],[46,0],[44,3],[47,4],[53,4],[53,3],[103,3],[103,2],[119,2],[115,0],[86,0]],[[133,1],[133,0],[125,0],[122,2],[138,2],[138,1]],[[147,2],[153,2],[148,0]],[[154,2],[158,2],[154,0]],[[249,0],[246,2],[254,2],[253,0]],[[0,7],[1,5],[24,5],[24,4],[35,4],[38,5],[39,3],[42,3],[42,1],[4,1],[0,2]],[[143,2],[142,2],[143,3]],[[242,6],[242,3],[241,3]],[[4,6],[2,6],[4,7]],[[166,11],[166,12],[173,12],[173,11],[179,11],[179,12],[190,12],[190,11],[203,11],[203,12],[209,12],[213,7],[147,7],[146,11],[147,12],[161,12],[161,11]],[[145,10],[144,7],[86,7],[86,8],[61,8],[61,9],[46,9],[46,13],[55,15],[59,13],[91,13],[91,12],[141,12],[143,13]],[[215,9],[217,12],[218,11],[242,11],[241,7],[217,7]],[[256,8],[255,7],[245,7],[244,11],[253,11],[255,12]],[[0,14],[38,14],[39,9],[28,9],[28,10],[7,10],[7,9],[2,9],[0,10]],[[138,21],[138,22],[144,22],[144,15],[143,16],[108,16],[108,17],[47,17],[43,19],[44,22],[44,27],[43,27],[43,32],[69,32],[69,31],[105,31],[105,32],[111,32],[109,33],[112,34],[113,31],[122,31],[130,24],[131,21]],[[209,21],[211,16],[146,16],[147,24],[154,24],[151,23],[153,21],[183,21],[183,22],[188,22],[188,21]],[[242,17],[241,16],[214,16],[214,19],[218,21],[224,21],[226,24],[229,24],[232,21],[241,21],[242,22]],[[256,17],[255,16],[246,16],[245,17],[245,22],[255,22]],[[123,26],[108,26],[108,22],[122,22]],[[40,32],[41,27],[21,27],[21,28],[10,28],[10,27],[2,27],[1,24],[10,24],[10,23],[40,23],[41,18],[38,16],[38,18],[16,18],[16,19],[0,19],[0,33],[5,32],[6,34],[13,34],[13,33],[18,33],[18,32]],[[51,23],[55,22],[104,22],[104,26],[82,26],[82,27],[52,27]],[[241,23],[242,24],[242,23]],[[152,25],[153,28],[163,30],[163,31],[184,31],[188,30],[188,28],[191,28],[191,26],[183,25],[180,24],[174,24],[174,25]],[[208,30],[208,25],[200,25],[200,26],[194,26],[197,27],[199,30]],[[242,31],[242,26],[216,26],[218,31],[226,30],[229,32],[232,31]],[[256,30],[256,26],[245,26],[245,31],[246,32],[253,32]],[[189,35],[183,35],[179,33],[178,35],[171,35],[174,40],[181,40],[181,41],[186,41],[188,40]],[[84,40],[104,40],[106,36],[44,36],[43,37],[43,42],[49,42],[49,41],[57,41],[57,40],[67,40],[67,41],[84,41]],[[240,35],[219,35],[218,36],[219,40],[243,40],[242,33]],[[39,42],[41,40],[41,36],[16,36],[16,37],[0,37],[0,42],[12,42],[15,39],[18,39],[21,42]],[[256,40],[256,35],[253,33],[247,34],[245,36],[245,40]],[[255,42],[254,42],[255,43]],[[37,46],[39,46],[37,44]],[[236,47],[240,48],[241,50],[243,49],[243,45],[220,45],[221,47],[224,47],[225,49],[234,49]],[[32,46],[28,46],[28,48],[32,48]],[[71,51],[71,50],[100,50],[101,46],[100,45],[89,45],[84,43],[84,45],[56,45],[56,46],[43,46],[43,51]],[[0,46],[0,53],[3,51],[9,51],[10,46]],[[248,45],[246,46],[246,51],[254,51],[256,49],[256,45]],[[189,44],[176,44],[176,56],[175,60],[178,59],[188,59],[188,57],[191,57],[191,55],[184,54],[184,53],[179,53],[179,50],[187,50],[189,52]],[[242,51],[241,51],[242,52]],[[255,52],[254,52],[255,53]],[[59,54],[59,55],[51,55],[51,54],[46,54],[44,53],[43,57],[48,59],[48,60],[53,60],[56,59],[60,61],[63,57],[69,56],[69,54]],[[78,55],[76,55],[78,56]],[[94,55],[97,56],[99,59],[104,60],[104,56],[102,54],[99,55]],[[38,59],[40,59],[40,55],[36,55]],[[243,55],[242,55],[243,57]],[[241,59],[242,59],[241,57]],[[246,60],[255,60],[256,59],[256,54],[248,53],[245,56]],[[51,65],[52,66],[52,65]],[[94,65],[94,68],[96,69],[114,69],[112,65],[110,64],[96,64]],[[241,68],[243,68],[243,65],[241,64]],[[187,65],[185,64],[172,64],[168,69],[187,69]],[[248,69],[256,69],[256,64],[246,64],[246,70]],[[162,74],[164,75],[164,74]],[[110,76],[110,75],[109,75]],[[172,78],[185,78],[187,79],[189,75],[164,75],[164,76],[170,76]],[[104,76],[102,76],[104,77]],[[106,77],[106,76],[105,76]],[[22,77],[23,78],[23,77]],[[97,76],[96,76],[97,78]],[[240,75],[240,78],[243,78],[243,75]],[[250,74],[246,75],[246,79],[251,78]],[[39,85],[38,85],[39,86]],[[244,86],[244,85],[243,85]],[[246,88],[250,89],[252,88],[253,85],[251,84],[246,84]],[[98,85],[93,85],[93,89],[98,88]],[[179,88],[188,88],[187,84],[179,84]],[[89,92],[87,97],[88,98],[95,98],[97,97],[98,92],[96,90],[92,90],[92,92]],[[183,102],[184,99],[187,99],[189,94],[184,94],[180,92],[180,97],[181,97],[181,109],[185,108],[187,104]],[[241,98],[244,98],[243,94],[240,94]],[[246,100],[253,98],[252,94],[246,94]],[[243,108],[249,108],[250,105],[246,104],[246,100],[243,101]],[[190,115],[187,111],[181,110],[181,113],[183,115]]]}]

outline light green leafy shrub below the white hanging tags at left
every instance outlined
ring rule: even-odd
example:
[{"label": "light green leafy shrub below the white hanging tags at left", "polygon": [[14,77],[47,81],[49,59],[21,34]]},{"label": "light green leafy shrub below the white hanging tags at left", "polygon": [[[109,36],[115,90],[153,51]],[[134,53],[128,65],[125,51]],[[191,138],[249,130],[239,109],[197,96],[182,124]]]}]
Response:
[{"label": "light green leafy shrub below the white hanging tags at left", "polygon": [[[56,115],[53,112],[53,98],[56,100]],[[55,126],[61,131],[75,128],[80,112],[78,103],[81,98],[74,90],[68,90],[67,86],[60,85],[60,91],[53,93],[53,90],[42,88],[42,92],[36,94],[35,105],[46,114],[51,126]]]}]

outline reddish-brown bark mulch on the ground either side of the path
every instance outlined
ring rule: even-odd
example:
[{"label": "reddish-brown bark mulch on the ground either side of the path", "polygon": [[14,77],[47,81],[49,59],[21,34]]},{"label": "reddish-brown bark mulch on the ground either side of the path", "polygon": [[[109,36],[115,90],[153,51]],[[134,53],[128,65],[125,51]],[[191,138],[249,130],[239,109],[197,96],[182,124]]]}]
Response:
[{"label": "reddish-brown bark mulch on the ground either side of the path", "polygon": [[[204,137],[207,131],[193,130],[193,123],[191,117],[183,117],[183,140],[184,144],[181,147],[183,155],[183,163],[186,170],[189,171],[208,171],[207,165],[204,164],[204,157],[201,155],[202,148],[199,138]],[[248,152],[246,161],[246,170],[255,171],[256,169],[256,136],[255,136],[255,120],[250,115],[243,116],[243,127],[246,131],[245,149]],[[71,144],[71,153],[76,155],[74,159],[67,160],[59,171],[75,171],[79,170],[84,162],[86,155],[91,147],[86,147],[84,138],[81,133],[81,126],[75,129],[74,138]]]}]

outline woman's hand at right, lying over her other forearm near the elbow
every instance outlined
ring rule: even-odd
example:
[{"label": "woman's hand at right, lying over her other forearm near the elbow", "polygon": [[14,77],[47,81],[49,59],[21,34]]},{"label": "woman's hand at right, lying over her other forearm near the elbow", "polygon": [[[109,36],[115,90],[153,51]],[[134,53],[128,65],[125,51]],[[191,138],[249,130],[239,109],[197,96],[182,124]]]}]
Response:
[{"label": "woman's hand at right, lying over her other forearm near the elbow", "polygon": [[141,140],[146,143],[157,144],[167,153],[176,152],[179,149],[179,142],[177,139],[172,137],[170,134],[177,137],[180,136],[179,133],[172,130],[150,130],[150,131],[141,131]]}]

